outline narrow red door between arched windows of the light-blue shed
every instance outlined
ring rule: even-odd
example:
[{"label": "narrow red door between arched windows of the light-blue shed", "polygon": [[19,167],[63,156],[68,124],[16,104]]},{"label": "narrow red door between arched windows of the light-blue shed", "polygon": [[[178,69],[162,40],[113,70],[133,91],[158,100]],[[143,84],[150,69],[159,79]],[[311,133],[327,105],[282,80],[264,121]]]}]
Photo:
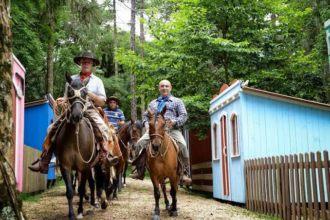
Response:
[{"label": "narrow red door between arched windows of the light-blue shed", "polygon": [[223,195],[229,196],[229,172],[228,172],[228,140],[227,140],[227,117],[222,115],[221,125],[221,163],[222,163],[222,185]]}]

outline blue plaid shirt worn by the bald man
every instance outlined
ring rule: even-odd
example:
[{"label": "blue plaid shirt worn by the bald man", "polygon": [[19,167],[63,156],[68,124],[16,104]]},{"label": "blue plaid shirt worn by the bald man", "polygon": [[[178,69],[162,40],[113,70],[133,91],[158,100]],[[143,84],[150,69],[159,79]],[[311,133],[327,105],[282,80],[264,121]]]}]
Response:
[{"label": "blue plaid shirt worn by the bald man", "polygon": [[[165,105],[166,105],[166,112],[164,115],[165,119],[167,118],[172,119],[175,124],[174,127],[182,126],[187,120],[187,111],[185,110],[183,101],[181,101],[180,98],[171,96],[168,99],[168,101],[165,102]],[[158,99],[155,99],[150,102],[148,108],[150,108],[151,111],[156,111],[157,106],[158,106]],[[142,117],[143,126],[146,126],[146,123],[149,123],[149,114],[147,110]]]}]

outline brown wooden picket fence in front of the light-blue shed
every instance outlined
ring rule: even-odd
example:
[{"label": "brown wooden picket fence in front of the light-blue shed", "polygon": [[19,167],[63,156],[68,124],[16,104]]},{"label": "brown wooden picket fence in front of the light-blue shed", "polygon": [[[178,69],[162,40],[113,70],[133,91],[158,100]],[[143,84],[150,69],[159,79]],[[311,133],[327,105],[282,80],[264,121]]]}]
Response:
[{"label": "brown wooden picket fence in front of the light-blue shed", "polygon": [[[244,161],[246,208],[281,219],[330,219],[328,151]],[[326,198],[328,202],[326,202]]]}]

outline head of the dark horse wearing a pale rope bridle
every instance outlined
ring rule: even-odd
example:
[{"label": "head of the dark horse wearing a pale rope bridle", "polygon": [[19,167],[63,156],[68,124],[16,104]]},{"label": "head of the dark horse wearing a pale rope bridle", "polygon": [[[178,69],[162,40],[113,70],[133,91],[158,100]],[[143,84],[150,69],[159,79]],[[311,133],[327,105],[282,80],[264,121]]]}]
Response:
[{"label": "head of the dark horse wearing a pale rope bridle", "polygon": [[90,81],[88,77],[84,82],[81,82],[79,78],[72,79],[71,76],[66,72],[65,78],[69,83],[67,91],[67,104],[68,111],[70,111],[70,121],[75,124],[81,122],[84,111],[87,109],[87,83]]}]

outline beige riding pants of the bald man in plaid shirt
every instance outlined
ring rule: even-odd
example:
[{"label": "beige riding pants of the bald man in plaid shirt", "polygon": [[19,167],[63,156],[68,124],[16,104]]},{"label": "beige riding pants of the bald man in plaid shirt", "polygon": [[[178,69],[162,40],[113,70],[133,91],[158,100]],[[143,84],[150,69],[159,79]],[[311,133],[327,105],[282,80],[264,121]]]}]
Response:
[{"label": "beige riding pants of the bald man in plaid shirt", "polygon": [[[178,129],[171,129],[171,136],[178,142],[182,157],[189,157],[187,144],[183,138],[182,133]],[[149,129],[146,133],[139,139],[137,146],[135,148],[135,154],[139,154],[141,149],[147,145],[149,141]]]}]

